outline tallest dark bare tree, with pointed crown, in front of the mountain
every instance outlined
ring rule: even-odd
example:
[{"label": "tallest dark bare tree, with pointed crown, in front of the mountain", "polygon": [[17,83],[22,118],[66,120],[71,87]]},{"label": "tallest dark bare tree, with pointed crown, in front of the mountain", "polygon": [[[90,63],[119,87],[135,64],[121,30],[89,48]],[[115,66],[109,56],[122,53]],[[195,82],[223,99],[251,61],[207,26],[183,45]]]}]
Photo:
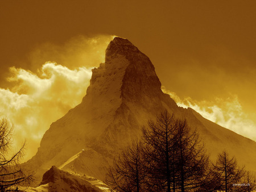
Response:
[{"label": "tallest dark bare tree, with pointed crown, in front of the mountain", "polygon": [[142,128],[147,165],[147,184],[152,191],[175,191],[176,183],[176,119],[167,111]]}]

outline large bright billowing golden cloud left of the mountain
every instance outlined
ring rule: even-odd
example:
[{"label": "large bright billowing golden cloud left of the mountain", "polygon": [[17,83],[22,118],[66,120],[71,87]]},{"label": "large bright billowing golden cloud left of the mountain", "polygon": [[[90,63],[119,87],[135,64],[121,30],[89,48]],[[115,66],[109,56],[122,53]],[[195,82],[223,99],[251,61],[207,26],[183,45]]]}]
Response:
[{"label": "large bright billowing golden cloud left of the mountain", "polygon": [[71,70],[53,62],[46,62],[37,74],[15,67],[10,70],[13,76],[8,81],[16,85],[0,88],[0,115],[14,124],[16,148],[27,140],[27,160],[50,124],[81,102],[92,71],[86,67]]}]

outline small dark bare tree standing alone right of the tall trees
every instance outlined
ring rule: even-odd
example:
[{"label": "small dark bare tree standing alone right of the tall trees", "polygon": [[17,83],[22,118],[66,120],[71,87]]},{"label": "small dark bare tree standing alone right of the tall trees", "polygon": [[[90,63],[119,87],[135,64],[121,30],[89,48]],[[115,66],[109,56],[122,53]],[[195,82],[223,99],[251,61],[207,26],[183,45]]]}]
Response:
[{"label": "small dark bare tree standing alone right of the tall trees", "polygon": [[216,164],[213,166],[214,175],[218,182],[218,190],[233,191],[236,188],[233,184],[241,183],[245,174],[244,168],[238,167],[236,158],[230,158],[226,151],[218,155]]}]

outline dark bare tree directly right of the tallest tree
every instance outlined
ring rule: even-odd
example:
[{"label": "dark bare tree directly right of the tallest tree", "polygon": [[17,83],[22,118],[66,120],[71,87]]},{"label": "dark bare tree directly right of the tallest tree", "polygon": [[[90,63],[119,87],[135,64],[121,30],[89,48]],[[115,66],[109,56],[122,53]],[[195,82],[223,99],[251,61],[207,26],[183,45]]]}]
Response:
[{"label": "dark bare tree directly right of the tallest tree", "polygon": [[201,187],[208,178],[209,156],[199,134],[192,130],[186,120],[177,120],[175,136],[178,161],[178,183],[181,191]]}]

